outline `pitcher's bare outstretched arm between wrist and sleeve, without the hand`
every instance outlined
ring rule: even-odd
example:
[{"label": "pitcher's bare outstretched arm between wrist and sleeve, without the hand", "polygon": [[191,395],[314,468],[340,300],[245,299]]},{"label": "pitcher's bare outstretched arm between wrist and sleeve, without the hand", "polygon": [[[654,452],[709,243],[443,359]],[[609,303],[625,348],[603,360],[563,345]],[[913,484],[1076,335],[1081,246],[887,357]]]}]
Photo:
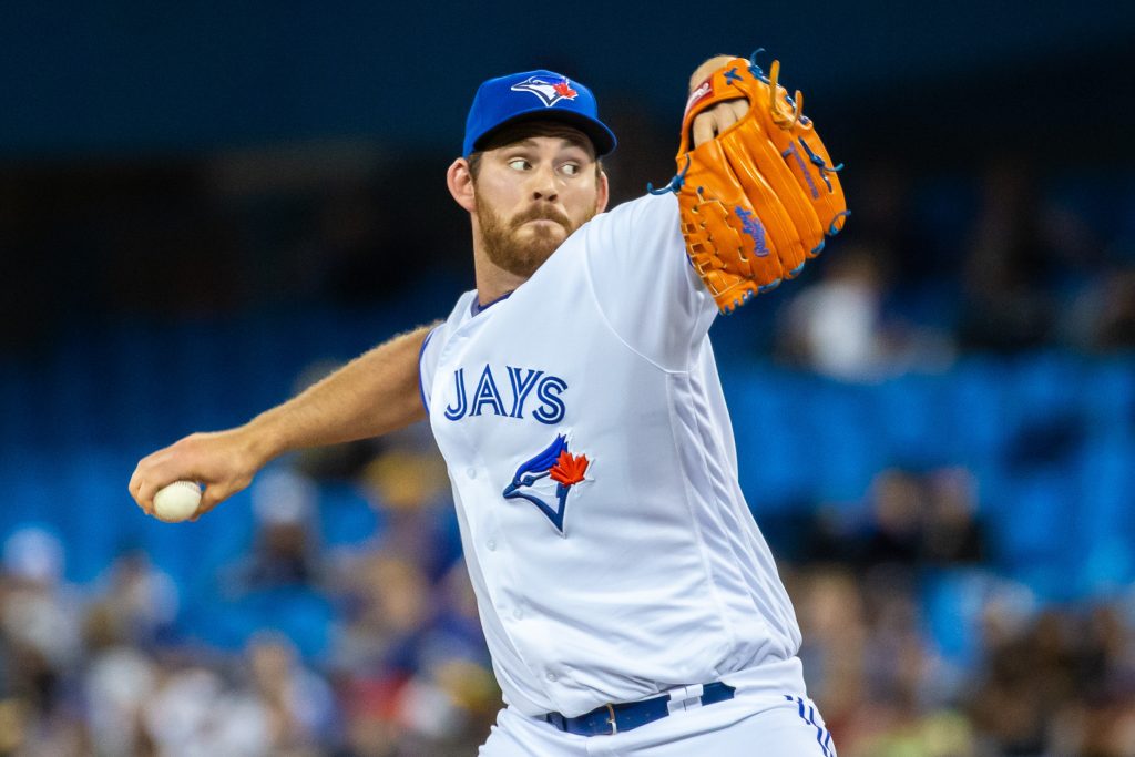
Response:
[{"label": "pitcher's bare outstretched arm between wrist and sleeve, without the hand", "polygon": [[250,453],[263,464],[286,452],[380,436],[424,418],[418,355],[429,328],[392,338],[254,418],[242,429]]}]

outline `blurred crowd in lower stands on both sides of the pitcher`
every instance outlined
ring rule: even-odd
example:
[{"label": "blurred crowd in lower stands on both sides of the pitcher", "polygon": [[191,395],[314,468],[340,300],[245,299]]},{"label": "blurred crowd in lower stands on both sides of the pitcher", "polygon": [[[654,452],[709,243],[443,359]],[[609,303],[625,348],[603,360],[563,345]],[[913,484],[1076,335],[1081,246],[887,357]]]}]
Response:
[{"label": "blurred crowd in lower stands on both sides of the pitcher", "polygon": [[[196,589],[129,548],[68,583],[50,529],[17,529],[0,754],[474,754],[499,691],[445,480],[413,435],[274,468],[252,540]],[[312,508],[344,485],[372,518],[333,547]],[[888,469],[855,507],[770,524],[840,754],[1135,754],[1135,591],[1042,602],[989,566],[976,505],[964,469]]]}]

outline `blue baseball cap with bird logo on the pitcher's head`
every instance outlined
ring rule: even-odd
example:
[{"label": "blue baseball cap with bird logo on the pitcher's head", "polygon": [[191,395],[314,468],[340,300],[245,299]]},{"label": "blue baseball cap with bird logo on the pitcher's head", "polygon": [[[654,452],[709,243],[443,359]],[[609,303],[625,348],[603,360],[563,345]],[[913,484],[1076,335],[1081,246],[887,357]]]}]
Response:
[{"label": "blue baseball cap with bird logo on the pitcher's head", "polygon": [[558,120],[587,134],[596,155],[615,149],[615,134],[599,120],[591,91],[563,74],[538,69],[490,78],[477,89],[465,119],[462,154],[484,148],[494,133],[521,120]]}]

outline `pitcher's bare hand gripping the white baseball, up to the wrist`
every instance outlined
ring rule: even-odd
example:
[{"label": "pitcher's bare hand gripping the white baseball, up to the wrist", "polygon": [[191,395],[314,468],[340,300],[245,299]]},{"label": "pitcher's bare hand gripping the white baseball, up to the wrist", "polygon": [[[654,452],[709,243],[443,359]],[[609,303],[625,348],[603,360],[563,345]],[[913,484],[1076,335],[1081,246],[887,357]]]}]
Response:
[{"label": "pitcher's bare hand gripping the white baseball, up to the wrist", "polygon": [[243,428],[212,434],[193,434],[138,461],[131,477],[131,496],[148,515],[153,515],[153,496],[174,481],[197,481],[204,486],[197,520],[218,504],[246,488],[262,462],[252,452]]}]

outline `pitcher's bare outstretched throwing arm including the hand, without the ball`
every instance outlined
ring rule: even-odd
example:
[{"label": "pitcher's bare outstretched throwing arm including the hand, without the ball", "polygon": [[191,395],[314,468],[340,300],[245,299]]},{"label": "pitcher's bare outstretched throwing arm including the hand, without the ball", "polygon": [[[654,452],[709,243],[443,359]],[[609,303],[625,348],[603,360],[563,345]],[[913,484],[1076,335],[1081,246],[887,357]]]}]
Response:
[{"label": "pitcher's bare outstretched throwing arm including the hand, without the ball", "polygon": [[431,327],[396,336],[244,426],[194,434],[143,457],[129,491],[153,514],[153,495],[178,480],[205,485],[197,514],[244,489],[272,459],[295,449],[388,434],[426,417],[418,356]]}]

